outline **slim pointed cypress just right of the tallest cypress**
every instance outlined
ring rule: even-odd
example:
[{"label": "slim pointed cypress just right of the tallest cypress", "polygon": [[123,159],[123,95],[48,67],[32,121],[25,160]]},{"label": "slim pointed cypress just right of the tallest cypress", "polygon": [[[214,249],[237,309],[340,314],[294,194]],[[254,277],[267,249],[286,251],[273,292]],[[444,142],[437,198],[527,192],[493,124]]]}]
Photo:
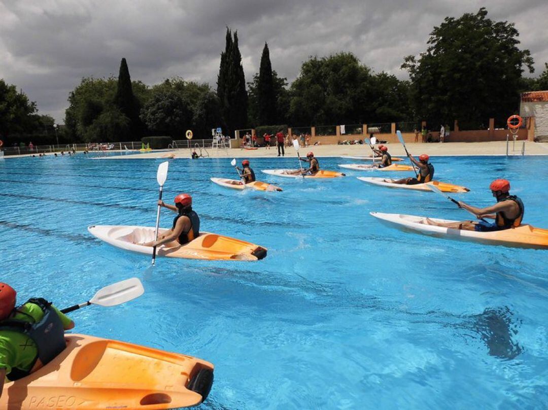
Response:
[{"label": "slim pointed cypress just right of the tallest cypress", "polygon": [[265,43],[262,49],[259,81],[257,84],[257,100],[259,105],[259,124],[272,125],[276,123],[276,95],[270,63],[269,45]]}]

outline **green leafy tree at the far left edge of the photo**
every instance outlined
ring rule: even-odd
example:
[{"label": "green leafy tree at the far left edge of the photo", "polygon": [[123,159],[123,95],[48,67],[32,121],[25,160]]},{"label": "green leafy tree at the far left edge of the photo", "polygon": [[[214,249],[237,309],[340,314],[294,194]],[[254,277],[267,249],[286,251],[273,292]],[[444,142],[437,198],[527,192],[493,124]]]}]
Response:
[{"label": "green leafy tree at the far left edge of the photo", "polygon": [[13,133],[30,132],[37,121],[33,114],[36,103],[29,101],[14,85],[8,85],[0,79],[0,135],[3,138]]}]

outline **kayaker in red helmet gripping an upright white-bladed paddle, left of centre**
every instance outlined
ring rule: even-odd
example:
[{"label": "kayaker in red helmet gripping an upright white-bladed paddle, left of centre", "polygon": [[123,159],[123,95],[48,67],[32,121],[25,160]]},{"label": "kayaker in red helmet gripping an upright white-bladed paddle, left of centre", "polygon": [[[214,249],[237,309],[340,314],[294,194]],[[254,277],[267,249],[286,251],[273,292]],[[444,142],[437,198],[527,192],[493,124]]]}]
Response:
[{"label": "kayaker in red helmet gripping an upright white-bladed paddle, left of centre", "polygon": [[180,193],[175,197],[174,202],[175,205],[169,205],[162,200],[158,201],[159,206],[177,213],[173,219],[172,228],[164,234],[158,235],[158,240],[142,243],[142,245],[160,246],[173,241],[184,245],[199,236],[200,219],[198,214],[192,210],[192,197],[188,193]]}]

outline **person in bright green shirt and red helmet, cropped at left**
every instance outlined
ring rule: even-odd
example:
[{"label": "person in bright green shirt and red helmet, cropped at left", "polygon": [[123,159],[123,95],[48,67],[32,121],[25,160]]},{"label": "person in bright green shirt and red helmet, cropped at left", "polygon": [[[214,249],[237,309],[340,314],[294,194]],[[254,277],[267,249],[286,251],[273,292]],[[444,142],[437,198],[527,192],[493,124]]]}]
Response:
[{"label": "person in bright green shirt and red helmet, cropped at left", "polygon": [[42,298],[15,306],[17,293],[0,283],[0,396],[4,380],[37,371],[66,348],[74,322]]}]

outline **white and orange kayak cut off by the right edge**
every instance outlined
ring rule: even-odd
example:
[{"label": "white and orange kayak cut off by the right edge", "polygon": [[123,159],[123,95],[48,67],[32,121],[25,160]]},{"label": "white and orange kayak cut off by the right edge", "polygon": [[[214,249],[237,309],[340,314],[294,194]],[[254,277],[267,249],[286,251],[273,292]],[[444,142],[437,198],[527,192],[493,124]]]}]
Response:
[{"label": "white and orange kayak cut off by the right edge", "polygon": [[[426,217],[416,217],[415,215],[385,214],[381,212],[370,212],[370,214],[388,225],[407,231],[419,232],[424,235],[458,241],[481,242],[489,245],[548,249],[548,229],[536,228],[531,225],[520,225],[516,228],[501,231],[476,232],[429,225],[425,223]],[[459,222],[449,219],[429,219],[436,223]]]}]

